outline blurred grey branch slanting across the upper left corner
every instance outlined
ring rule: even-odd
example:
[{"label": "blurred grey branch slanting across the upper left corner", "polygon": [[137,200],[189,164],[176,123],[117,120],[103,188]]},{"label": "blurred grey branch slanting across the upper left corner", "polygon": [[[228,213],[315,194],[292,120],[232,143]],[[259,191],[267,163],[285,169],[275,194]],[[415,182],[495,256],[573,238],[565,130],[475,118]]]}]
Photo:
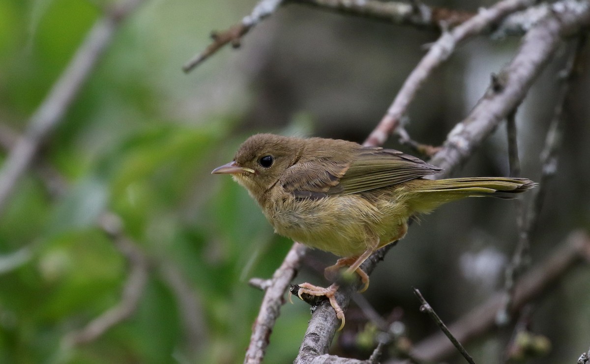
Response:
[{"label": "blurred grey branch slanting across the upper left corner", "polygon": [[12,148],[0,170],[0,214],[41,143],[63,120],[63,115],[110,44],[117,26],[139,4],[140,0],[123,1],[94,23],[70,64],[32,115],[25,134]]}]

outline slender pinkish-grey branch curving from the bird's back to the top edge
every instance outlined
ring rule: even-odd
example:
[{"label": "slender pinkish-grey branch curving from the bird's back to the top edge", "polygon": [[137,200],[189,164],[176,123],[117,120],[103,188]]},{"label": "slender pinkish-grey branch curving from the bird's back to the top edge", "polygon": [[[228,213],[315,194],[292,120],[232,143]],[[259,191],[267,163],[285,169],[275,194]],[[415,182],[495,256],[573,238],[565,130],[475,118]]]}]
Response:
[{"label": "slender pinkish-grey branch curving from the bird's back to the top edge", "polygon": [[481,10],[477,15],[458,25],[450,32],[444,32],[408,76],[394,102],[392,102],[379,124],[366,139],[365,145],[375,146],[385,143],[389,135],[399,126],[401,118],[404,117],[409,105],[414,101],[418,90],[424,85],[435,68],[451,57],[458,44],[467,38],[480,34],[484,29],[497,24],[504,16],[523,9],[533,4],[533,2],[533,0],[500,1],[489,9]]}]

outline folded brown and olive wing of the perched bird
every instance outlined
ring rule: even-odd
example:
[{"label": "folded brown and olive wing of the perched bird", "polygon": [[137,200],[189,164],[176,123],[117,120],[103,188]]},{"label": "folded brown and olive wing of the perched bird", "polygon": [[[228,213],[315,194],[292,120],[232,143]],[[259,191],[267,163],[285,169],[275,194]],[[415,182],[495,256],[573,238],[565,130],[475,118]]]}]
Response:
[{"label": "folded brown and olive wing of the perched bird", "polygon": [[296,163],[287,168],[280,183],[297,198],[315,199],[391,186],[442,170],[393,149],[362,147],[354,155],[352,163],[332,159]]}]

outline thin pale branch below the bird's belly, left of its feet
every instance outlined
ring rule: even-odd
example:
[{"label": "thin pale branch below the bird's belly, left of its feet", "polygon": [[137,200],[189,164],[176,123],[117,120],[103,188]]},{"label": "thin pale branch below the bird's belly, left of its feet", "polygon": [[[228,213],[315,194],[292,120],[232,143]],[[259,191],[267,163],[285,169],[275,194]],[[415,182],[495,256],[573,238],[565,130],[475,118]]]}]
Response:
[{"label": "thin pale branch below the bird's belly, left of its feet", "polygon": [[272,282],[266,287],[260,312],[254,322],[244,363],[261,363],[264,359],[270,333],[284,303],[287,286],[297,274],[306,250],[307,248],[303,244],[294,243],[283,260],[283,264],[274,272]]}]

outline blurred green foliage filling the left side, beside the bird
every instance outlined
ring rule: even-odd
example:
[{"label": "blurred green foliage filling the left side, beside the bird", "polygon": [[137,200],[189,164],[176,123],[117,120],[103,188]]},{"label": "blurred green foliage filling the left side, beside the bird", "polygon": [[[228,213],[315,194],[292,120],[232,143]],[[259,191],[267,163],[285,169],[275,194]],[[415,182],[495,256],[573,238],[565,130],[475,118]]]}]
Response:
[{"label": "blurred green foliage filling the left side, beside the bird", "polygon": [[[0,2],[2,123],[24,130],[110,3]],[[270,277],[290,241],[274,236],[230,178],[209,174],[244,137],[229,133],[247,107],[241,86],[227,95],[235,102],[194,106],[207,105],[208,82],[227,54],[194,76],[181,65],[212,28],[252,4],[146,1],[123,23],[2,214],[0,362],[243,360],[262,296],[247,280]],[[43,165],[63,178],[57,193]],[[148,257],[148,283],[129,319],[68,349],[64,337],[116,305],[129,274],[129,262],[97,225],[109,210]],[[181,296],[162,274],[170,265],[198,303],[196,342],[187,339]],[[296,355],[293,339],[304,332],[307,310],[291,307],[274,331],[269,362]]]}]

